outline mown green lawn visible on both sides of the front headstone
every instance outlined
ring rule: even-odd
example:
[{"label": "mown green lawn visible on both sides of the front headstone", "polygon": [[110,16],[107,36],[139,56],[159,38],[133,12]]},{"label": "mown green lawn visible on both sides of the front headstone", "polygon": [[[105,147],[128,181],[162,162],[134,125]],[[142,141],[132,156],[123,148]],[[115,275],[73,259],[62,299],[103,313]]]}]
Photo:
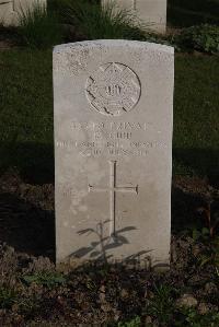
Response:
[{"label": "mown green lawn visible on both sides of the front headstone", "polygon": [[[0,171],[54,178],[51,52],[0,52]],[[176,55],[174,174],[219,177],[219,58]],[[219,179],[219,178],[218,178]]]}]

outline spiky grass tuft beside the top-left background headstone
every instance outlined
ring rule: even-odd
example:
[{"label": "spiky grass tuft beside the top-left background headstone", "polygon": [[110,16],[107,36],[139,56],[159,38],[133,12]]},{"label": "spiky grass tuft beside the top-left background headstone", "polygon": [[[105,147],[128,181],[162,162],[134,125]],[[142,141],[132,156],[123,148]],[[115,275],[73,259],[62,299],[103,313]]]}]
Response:
[{"label": "spiky grass tuft beside the top-left background headstone", "polygon": [[31,48],[47,48],[61,43],[62,32],[57,14],[39,2],[25,11],[21,9],[19,25],[21,42]]}]

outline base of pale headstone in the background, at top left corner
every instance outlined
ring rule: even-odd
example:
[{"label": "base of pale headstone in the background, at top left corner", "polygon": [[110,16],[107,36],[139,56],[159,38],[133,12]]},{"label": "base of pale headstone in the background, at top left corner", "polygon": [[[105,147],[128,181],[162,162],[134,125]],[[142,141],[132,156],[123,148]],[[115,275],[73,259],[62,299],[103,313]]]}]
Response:
[{"label": "base of pale headstone in the background, at top left corner", "polygon": [[36,5],[46,7],[47,0],[0,0],[0,23],[19,25],[22,13],[33,10]]}]

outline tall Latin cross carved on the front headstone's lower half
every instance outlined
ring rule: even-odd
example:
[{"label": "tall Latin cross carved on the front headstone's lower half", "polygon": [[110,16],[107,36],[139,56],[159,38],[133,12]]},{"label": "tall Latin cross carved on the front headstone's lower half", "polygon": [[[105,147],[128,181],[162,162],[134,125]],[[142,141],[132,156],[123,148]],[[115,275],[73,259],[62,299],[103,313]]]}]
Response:
[{"label": "tall Latin cross carved on the front headstone's lower half", "polygon": [[110,183],[108,187],[97,187],[89,184],[89,191],[107,191],[110,192],[110,217],[111,217],[111,230],[110,235],[115,237],[116,235],[116,192],[135,192],[138,194],[137,186],[117,186],[116,185],[116,161],[108,161],[110,164]]}]

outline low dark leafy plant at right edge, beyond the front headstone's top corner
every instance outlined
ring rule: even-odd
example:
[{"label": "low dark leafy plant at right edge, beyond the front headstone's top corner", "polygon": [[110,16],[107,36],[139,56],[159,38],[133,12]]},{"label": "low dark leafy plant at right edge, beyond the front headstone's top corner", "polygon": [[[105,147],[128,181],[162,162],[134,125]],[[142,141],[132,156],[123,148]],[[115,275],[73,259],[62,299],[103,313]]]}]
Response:
[{"label": "low dark leafy plant at right edge, beyond the front headstone's top corner", "polygon": [[192,49],[208,54],[219,52],[219,26],[201,24],[184,28],[174,42],[182,49]]}]

